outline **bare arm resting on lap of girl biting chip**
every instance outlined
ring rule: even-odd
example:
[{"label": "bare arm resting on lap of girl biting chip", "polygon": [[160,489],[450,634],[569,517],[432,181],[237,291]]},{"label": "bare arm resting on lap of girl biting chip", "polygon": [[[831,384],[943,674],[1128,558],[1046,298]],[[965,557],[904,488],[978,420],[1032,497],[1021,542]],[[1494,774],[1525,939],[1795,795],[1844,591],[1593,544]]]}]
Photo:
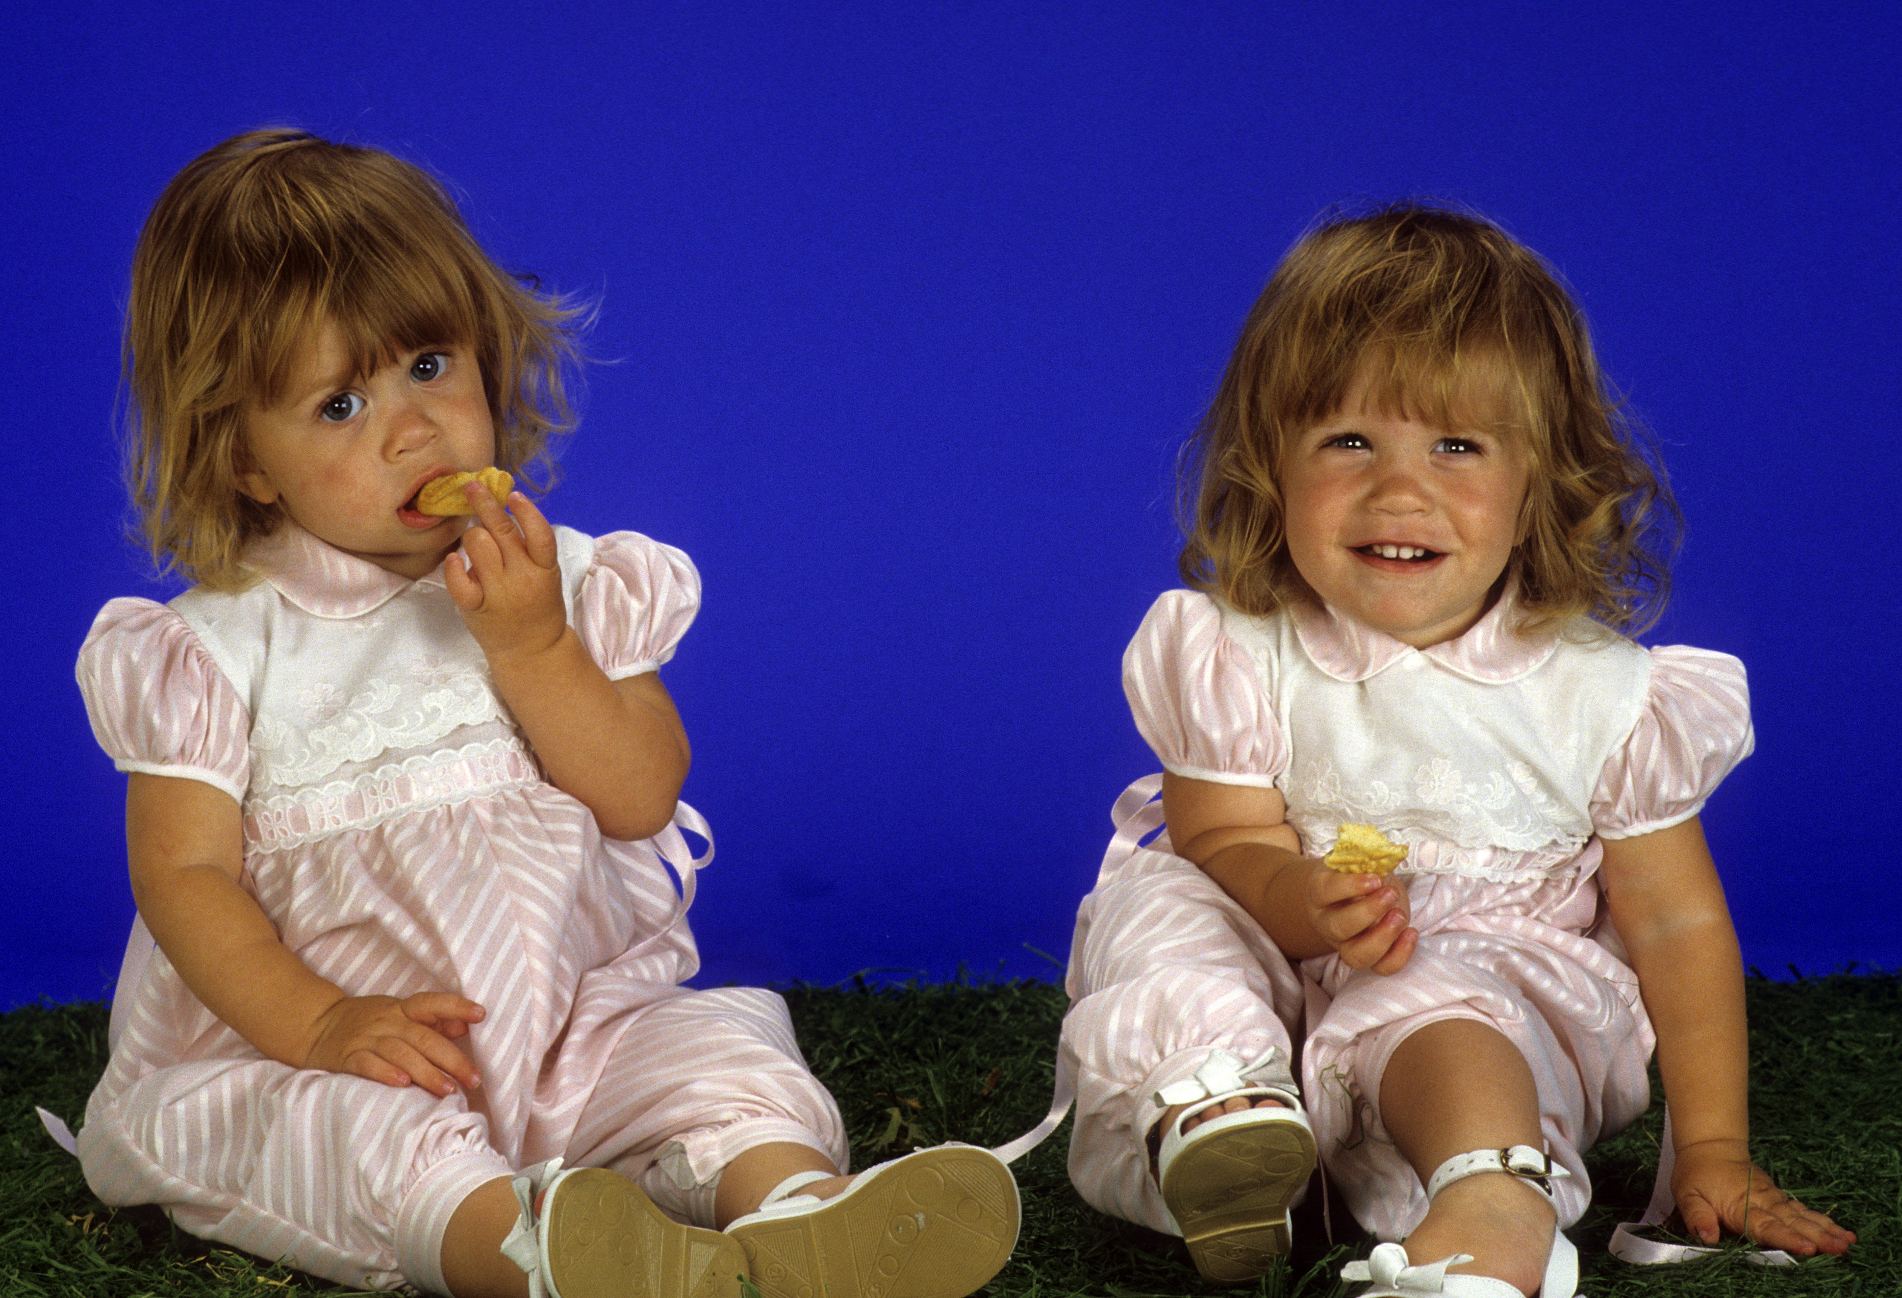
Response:
[{"label": "bare arm resting on lap of girl biting chip", "polygon": [[[240,883],[242,824],[230,794],[135,773],[126,784],[131,895],[158,948],[205,1009],[293,1068],[352,1072],[447,1094],[476,1070],[447,1041],[481,1018],[458,995],[348,997],[283,942]],[[447,1073],[447,1075],[445,1075]]]}]

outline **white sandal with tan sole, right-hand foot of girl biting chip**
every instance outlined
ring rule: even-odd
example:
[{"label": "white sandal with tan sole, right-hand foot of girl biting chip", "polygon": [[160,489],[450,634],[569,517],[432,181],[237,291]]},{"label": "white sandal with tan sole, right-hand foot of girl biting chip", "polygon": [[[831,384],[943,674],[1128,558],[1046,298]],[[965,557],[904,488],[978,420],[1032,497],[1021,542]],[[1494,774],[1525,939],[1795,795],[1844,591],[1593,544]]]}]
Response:
[{"label": "white sandal with tan sole, right-hand foot of girl biting chip", "polygon": [[860,1172],[831,1199],[787,1176],[727,1226],[765,1298],[964,1298],[1018,1245],[1018,1182],[989,1150],[941,1144]]}]

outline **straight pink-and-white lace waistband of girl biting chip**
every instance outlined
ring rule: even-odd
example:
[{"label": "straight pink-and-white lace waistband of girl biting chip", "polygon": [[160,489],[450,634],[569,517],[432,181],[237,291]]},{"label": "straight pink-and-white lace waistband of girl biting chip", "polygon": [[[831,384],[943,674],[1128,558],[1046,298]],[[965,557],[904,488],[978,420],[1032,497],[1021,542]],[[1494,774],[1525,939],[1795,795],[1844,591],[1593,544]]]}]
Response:
[{"label": "straight pink-and-white lace waistband of girl biting chip", "polygon": [[367,830],[396,815],[538,784],[534,757],[515,738],[489,738],[367,771],[354,780],[245,803],[243,836],[261,851]]}]

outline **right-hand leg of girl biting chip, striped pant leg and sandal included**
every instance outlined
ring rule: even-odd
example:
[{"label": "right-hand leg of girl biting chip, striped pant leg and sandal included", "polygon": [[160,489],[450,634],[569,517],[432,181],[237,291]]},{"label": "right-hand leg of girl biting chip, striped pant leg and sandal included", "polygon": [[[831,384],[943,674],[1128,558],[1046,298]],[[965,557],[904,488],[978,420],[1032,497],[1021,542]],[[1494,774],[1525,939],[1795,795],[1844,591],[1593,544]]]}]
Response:
[{"label": "right-hand leg of girl biting chip, striped pant leg and sandal included", "polygon": [[[767,1298],[962,1298],[1018,1235],[1016,1184],[985,1150],[835,1174],[846,1165],[839,1110],[806,1070],[786,1003],[755,988],[631,1014],[567,1157],[620,1170],[677,1220],[734,1226],[725,1239]],[[801,1172],[812,1180],[787,1184]],[[784,1205],[736,1224],[774,1190]]]}]

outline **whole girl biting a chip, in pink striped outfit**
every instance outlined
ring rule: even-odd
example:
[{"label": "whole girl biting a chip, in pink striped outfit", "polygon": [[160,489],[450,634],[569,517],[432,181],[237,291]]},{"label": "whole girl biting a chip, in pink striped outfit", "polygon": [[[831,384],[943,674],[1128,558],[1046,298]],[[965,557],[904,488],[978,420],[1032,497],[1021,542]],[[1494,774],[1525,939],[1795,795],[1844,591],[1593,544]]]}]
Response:
[{"label": "whole girl biting a chip, in pink striped outfit", "polygon": [[573,316],[378,150],[255,131],[154,206],[129,476],[194,586],[80,651],[139,906],[86,1178],[350,1287],[961,1298],[1010,1170],[841,1176],[784,1001],[681,986],[711,841],[658,670],[692,563],[519,491],[417,508],[544,459]]}]

